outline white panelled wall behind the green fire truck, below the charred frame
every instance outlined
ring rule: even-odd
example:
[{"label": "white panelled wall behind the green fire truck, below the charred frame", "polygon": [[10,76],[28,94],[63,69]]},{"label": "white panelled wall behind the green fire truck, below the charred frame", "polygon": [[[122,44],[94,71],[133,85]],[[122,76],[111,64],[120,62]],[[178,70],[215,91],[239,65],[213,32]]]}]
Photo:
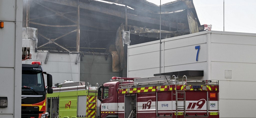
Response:
[{"label": "white panelled wall behind the green fire truck, below the charred frame", "polygon": [[[80,58],[76,64],[78,54],[50,53],[48,61],[45,64],[47,50],[37,50],[35,52],[35,41],[30,42],[30,52],[32,59],[22,61],[23,64],[31,64],[33,61],[42,62],[44,72],[52,75],[52,86],[57,83],[63,83],[64,80],[79,81],[80,78]],[[44,76],[47,83],[47,77]]]}]

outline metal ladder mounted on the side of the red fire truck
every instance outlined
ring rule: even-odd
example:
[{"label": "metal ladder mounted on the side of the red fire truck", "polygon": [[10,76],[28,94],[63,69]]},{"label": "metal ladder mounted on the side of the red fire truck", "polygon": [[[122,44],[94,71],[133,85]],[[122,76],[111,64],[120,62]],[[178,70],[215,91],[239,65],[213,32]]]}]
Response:
[{"label": "metal ladder mounted on the side of the red fire truck", "polygon": [[[176,118],[178,117],[178,114],[180,111],[178,110],[183,110],[183,115],[184,118],[186,117],[186,94],[185,94],[185,84],[187,83],[187,77],[186,77],[186,81],[185,83],[183,82],[183,78],[186,77],[185,75],[182,77],[182,85],[183,85],[183,89],[181,90],[177,90],[177,79],[178,77],[176,77],[175,75],[172,76],[172,78],[175,79],[175,96],[176,96]],[[182,88],[182,87],[181,87]],[[180,97],[178,97],[178,94],[180,94]],[[180,103],[180,101],[183,102],[183,104]]]}]

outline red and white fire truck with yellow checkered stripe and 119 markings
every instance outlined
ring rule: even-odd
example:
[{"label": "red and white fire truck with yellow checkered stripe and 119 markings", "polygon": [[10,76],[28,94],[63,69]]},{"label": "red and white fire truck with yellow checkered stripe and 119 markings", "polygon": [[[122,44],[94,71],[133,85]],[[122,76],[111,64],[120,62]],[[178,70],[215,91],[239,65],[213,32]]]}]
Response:
[{"label": "red and white fire truck with yellow checkered stripe and 119 markings", "polygon": [[101,118],[219,118],[218,81],[112,77],[100,86],[98,99]]}]

